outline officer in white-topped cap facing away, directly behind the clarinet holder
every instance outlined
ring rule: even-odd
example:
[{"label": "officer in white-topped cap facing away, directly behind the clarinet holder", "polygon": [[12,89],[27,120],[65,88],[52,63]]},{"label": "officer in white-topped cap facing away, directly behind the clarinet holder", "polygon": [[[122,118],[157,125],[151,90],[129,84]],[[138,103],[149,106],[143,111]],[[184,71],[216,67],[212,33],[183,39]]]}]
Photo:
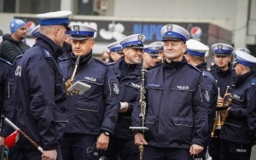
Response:
[{"label": "officer in white-topped cap facing away, directly behind the clarinet holder", "polygon": [[205,160],[207,146],[209,143],[210,136],[212,134],[212,126],[215,118],[215,111],[218,100],[218,88],[215,82],[214,77],[207,71],[207,63],[205,62],[205,54],[209,50],[209,48],[194,39],[189,39],[186,42],[187,44],[187,54],[185,54],[188,63],[202,71],[203,77],[205,79],[205,83],[201,83],[202,99],[204,101],[204,106],[207,106],[208,109],[208,131],[207,131],[207,142],[204,146],[204,150],[195,155],[195,160]]}]

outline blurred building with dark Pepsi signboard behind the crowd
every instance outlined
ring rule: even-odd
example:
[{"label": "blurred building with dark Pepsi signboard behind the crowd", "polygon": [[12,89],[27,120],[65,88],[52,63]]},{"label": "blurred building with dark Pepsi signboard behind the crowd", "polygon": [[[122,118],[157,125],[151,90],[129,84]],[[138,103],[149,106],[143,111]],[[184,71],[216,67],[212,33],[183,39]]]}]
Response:
[{"label": "blurred building with dark Pepsi signboard behind the crowd", "polygon": [[18,17],[31,30],[36,14],[57,10],[71,10],[71,23],[97,28],[95,54],[135,33],[144,34],[145,43],[159,41],[161,26],[175,23],[209,46],[229,43],[256,55],[256,0],[0,0],[0,27],[9,33],[9,21]]}]

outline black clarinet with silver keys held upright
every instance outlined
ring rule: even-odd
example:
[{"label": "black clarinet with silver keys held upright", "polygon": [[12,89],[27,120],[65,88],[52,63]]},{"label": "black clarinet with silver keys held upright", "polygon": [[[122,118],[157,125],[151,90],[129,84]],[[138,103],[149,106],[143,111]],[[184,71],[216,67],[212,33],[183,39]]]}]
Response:
[{"label": "black clarinet with silver keys held upright", "polygon": [[145,89],[145,73],[146,69],[144,66],[142,66],[142,83],[141,83],[141,98],[140,98],[140,106],[141,106],[141,112],[139,117],[142,119],[142,127],[130,127],[129,129],[138,129],[142,130],[143,132],[145,130],[148,130],[147,127],[145,127],[145,117],[146,117],[146,89]]}]

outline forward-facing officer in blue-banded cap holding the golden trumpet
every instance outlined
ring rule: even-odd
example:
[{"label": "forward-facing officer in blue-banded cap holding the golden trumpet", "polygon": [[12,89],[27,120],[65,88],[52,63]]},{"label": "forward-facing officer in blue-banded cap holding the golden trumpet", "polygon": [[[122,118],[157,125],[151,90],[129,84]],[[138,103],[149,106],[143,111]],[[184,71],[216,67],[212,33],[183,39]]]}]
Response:
[{"label": "forward-facing officer in blue-banded cap holding the golden trumpet", "polygon": [[[221,103],[227,86],[231,86],[233,84],[233,77],[235,77],[235,71],[232,69],[230,64],[233,47],[225,43],[215,43],[212,44],[211,48],[215,66],[210,70],[210,73],[216,80],[219,89],[218,103]],[[212,160],[219,160],[219,129],[216,129],[214,134],[216,137],[211,138],[208,151]]]}]

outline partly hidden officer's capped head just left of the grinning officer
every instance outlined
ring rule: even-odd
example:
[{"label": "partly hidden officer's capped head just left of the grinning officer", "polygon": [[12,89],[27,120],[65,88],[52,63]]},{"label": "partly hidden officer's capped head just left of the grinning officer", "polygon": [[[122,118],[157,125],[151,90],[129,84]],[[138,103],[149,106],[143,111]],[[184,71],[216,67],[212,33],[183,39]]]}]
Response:
[{"label": "partly hidden officer's capped head just left of the grinning officer", "polygon": [[109,62],[116,62],[119,58],[124,56],[122,45],[119,41],[108,45],[109,49]]}]

